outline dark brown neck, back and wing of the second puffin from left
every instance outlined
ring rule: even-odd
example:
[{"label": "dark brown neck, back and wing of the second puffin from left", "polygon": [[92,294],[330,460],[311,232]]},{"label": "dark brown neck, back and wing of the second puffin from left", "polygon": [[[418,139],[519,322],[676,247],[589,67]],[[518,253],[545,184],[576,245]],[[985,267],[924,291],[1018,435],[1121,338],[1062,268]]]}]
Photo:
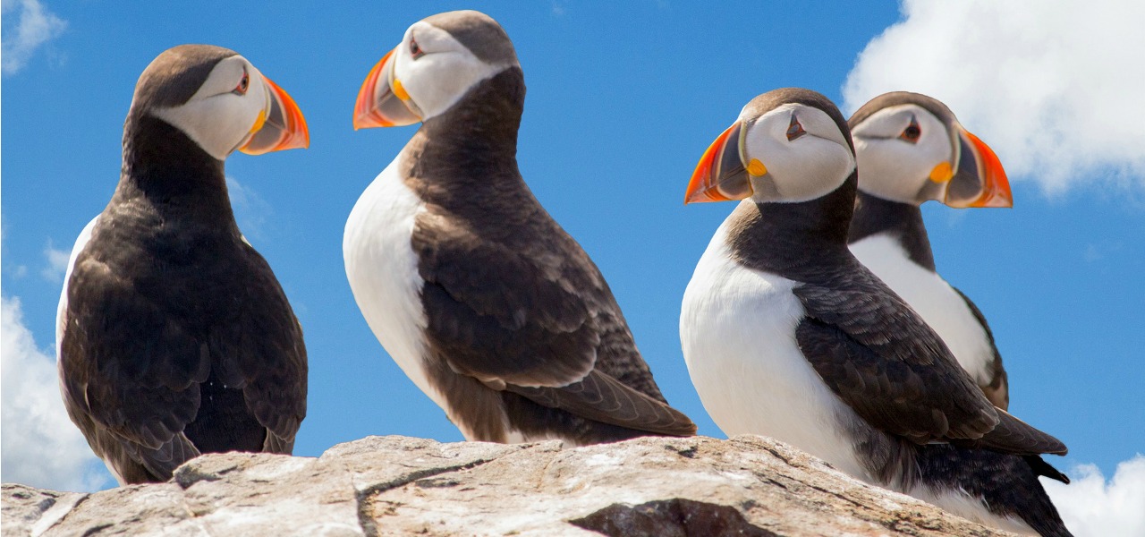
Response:
[{"label": "dark brown neck, back and wing of the second puffin from left", "polygon": [[[520,68],[472,88],[406,145],[426,204],[412,235],[431,377],[480,440],[511,428],[577,443],[690,435],[640,357],[608,284],[516,167]],[[465,126],[458,128],[458,126]],[[448,388],[447,388],[448,387]]]}]

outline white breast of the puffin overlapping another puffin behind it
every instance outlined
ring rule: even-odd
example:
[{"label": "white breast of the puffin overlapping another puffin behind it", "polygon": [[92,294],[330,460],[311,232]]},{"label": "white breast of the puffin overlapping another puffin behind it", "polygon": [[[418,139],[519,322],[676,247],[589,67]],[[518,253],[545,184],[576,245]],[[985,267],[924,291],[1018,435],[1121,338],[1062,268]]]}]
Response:
[{"label": "white breast of the puffin overlapping another puffin behind it", "polygon": [[788,442],[870,481],[840,419],[858,419],[823,384],[795,341],[798,285],[736,263],[726,222],[684,293],[680,341],[704,409],[727,435]]}]

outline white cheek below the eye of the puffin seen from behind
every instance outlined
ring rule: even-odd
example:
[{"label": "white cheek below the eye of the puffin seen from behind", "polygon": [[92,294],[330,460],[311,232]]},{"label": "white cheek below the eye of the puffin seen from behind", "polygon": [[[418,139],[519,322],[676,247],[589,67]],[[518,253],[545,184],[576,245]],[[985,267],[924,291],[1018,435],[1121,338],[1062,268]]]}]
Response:
[{"label": "white cheek below the eye of the puffin seen from behind", "polygon": [[[252,80],[253,81],[253,80]],[[160,109],[160,119],[185,133],[204,151],[223,160],[251,132],[262,109],[261,81],[246,95],[222,94],[194,100],[182,106]]]}]

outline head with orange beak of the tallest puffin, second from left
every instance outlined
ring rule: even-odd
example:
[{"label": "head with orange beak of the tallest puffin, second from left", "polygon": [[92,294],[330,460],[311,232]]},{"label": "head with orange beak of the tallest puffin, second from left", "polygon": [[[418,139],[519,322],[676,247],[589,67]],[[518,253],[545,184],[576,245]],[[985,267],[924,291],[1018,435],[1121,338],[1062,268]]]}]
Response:
[{"label": "head with orange beak of the tallest puffin, second from left", "polygon": [[426,121],[482,80],[520,66],[508,34],[489,15],[449,11],[418,21],[370,71],[354,106],[354,128]]}]

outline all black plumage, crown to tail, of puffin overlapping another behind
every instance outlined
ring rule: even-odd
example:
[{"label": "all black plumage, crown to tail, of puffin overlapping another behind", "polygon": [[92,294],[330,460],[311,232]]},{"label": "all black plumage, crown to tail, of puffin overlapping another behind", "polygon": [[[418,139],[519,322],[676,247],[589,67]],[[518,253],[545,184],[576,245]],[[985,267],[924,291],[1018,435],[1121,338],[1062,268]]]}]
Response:
[{"label": "all black plumage, crown to tail, of puffin overlapping another behind", "polygon": [[[741,118],[791,102],[823,110],[850,141],[838,110],[812,92],[765,94]],[[1040,457],[1065,453],[1065,445],[987,401],[938,334],[848,250],[859,173],[811,200],[742,202],[725,224],[731,256],[793,282],[790,293],[802,306],[793,342],[854,411],[842,412],[838,427],[875,481],[909,493],[929,489],[929,497],[969,493],[992,515],[1020,519],[1042,535],[1069,535],[1037,481],[1068,482]],[[929,243],[908,251],[929,258]]]}]

